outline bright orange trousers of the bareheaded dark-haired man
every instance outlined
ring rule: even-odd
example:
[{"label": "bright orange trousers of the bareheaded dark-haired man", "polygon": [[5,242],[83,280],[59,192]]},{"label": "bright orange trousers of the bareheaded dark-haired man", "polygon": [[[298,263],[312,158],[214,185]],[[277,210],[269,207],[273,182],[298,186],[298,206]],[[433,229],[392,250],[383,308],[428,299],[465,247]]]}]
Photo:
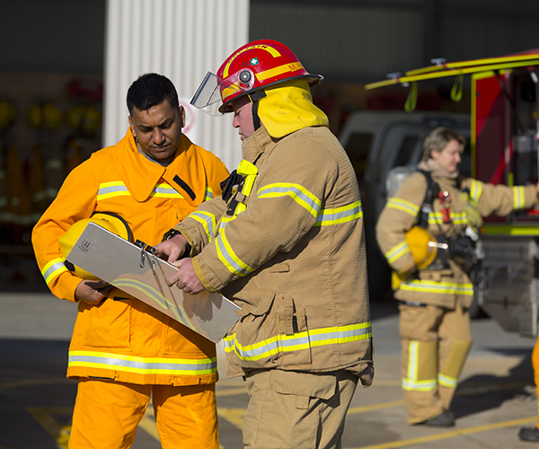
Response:
[{"label": "bright orange trousers of the bareheaded dark-haired man", "polygon": [[218,449],[215,383],[138,385],[83,379],[73,413],[70,449],[127,449],[152,396],[163,449]]}]

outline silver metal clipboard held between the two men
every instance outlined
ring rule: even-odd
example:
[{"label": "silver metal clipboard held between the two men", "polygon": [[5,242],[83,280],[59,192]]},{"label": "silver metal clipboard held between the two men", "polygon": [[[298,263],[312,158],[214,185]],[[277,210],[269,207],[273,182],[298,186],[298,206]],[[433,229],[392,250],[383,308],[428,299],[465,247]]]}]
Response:
[{"label": "silver metal clipboard held between the two men", "polygon": [[128,242],[100,225],[88,223],[66,260],[181,322],[190,330],[218,342],[225,337],[240,310],[224,296],[208,290],[184,293],[166,280],[178,269],[153,254],[146,243]]}]

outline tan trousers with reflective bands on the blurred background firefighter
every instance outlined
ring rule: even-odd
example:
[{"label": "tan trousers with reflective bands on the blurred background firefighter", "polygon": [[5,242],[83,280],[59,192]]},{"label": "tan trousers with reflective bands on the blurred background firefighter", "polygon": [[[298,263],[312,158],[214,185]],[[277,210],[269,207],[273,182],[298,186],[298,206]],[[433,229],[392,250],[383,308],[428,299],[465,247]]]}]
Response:
[{"label": "tan trousers with reflective bands on the blurred background firefighter", "polygon": [[402,390],[408,424],[449,409],[472,345],[470,315],[436,305],[399,304]]}]

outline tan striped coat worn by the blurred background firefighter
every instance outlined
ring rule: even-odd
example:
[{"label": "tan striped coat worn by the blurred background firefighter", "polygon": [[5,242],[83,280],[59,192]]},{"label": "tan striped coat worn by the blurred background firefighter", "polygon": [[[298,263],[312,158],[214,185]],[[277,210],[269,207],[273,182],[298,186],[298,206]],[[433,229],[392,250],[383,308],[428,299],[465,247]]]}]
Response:
[{"label": "tan striped coat worn by the blurred background firefighter", "polygon": [[[473,207],[481,216],[506,216],[515,209],[532,207],[535,203],[535,186],[507,187],[493,185],[471,178],[460,182],[456,179],[436,178],[442,191],[449,193],[451,223],[444,223],[442,204],[435,198],[429,213],[429,231],[434,235],[451,237],[462,233],[468,224],[466,207]],[[393,198],[386,203],[376,224],[376,239],[386,260],[397,273],[412,269],[415,264],[404,234],[417,223],[428,184],[425,176],[414,172],[404,180]],[[464,193],[461,196],[461,193]],[[463,198],[464,197],[464,198]],[[449,260],[450,268],[443,270],[423,269],[417,276],[407,277],[394,292],[402,301],[433,304],[454,309],[456,301],[467,308],[473,301],[473,284],[464,270]]]}]

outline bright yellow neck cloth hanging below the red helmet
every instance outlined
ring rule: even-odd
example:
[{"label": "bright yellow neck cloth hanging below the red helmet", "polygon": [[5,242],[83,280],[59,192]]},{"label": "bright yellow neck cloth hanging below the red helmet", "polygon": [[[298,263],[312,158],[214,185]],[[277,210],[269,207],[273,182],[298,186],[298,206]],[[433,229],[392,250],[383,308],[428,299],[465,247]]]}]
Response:
[{"label": "bright yellow neck cloth hanging below the red helmet", "polygon": [[270,86],[264,91],[266,96],[259,100],[258,116],[270,136],[279,138],[301,128],[329,127],[327,116],[313,104],[305,79]]}]

